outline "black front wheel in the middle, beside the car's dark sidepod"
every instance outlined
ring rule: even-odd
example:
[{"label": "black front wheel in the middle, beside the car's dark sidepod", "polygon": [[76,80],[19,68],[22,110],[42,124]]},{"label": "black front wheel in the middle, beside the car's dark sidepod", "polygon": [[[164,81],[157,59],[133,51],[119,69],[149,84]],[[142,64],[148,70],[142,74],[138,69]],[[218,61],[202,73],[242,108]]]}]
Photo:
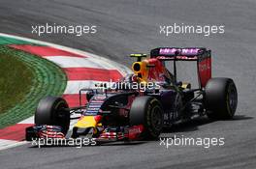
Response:
[{"label": "black front wheel in the middle, beside the car's dark sidepod", "polygon": [[136,98],[130,110],[130,124],[144,125],[144,139],[156,139],[164,124],[163,109],[159,100],[152,97]]}]

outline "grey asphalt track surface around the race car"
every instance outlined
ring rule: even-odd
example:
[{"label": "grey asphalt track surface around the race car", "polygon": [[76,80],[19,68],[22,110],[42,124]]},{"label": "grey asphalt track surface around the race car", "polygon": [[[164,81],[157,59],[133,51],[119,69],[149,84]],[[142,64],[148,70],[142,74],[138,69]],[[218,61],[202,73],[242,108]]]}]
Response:
[{"label": "grey asphalt track surface around the race car", "polygon": [[[0,30],[80,48],[128,66],[133,52],[155,46],[207,46],[212,49],[213,75],[232,77],[239,90],[237,116],[232,121],[191,122],[161,136],[225,137],[221,147],[159,145],[159,141],[98,147],[32,148],[23,145],[1,151],[1,168],[255,168],[256,167],[256,2],[139,0],[1,0]],[[82,37],[31,34],[31,25],[95,24],[95,35]],[[159,25],[224,24],[225,34],[165,37]]]}]

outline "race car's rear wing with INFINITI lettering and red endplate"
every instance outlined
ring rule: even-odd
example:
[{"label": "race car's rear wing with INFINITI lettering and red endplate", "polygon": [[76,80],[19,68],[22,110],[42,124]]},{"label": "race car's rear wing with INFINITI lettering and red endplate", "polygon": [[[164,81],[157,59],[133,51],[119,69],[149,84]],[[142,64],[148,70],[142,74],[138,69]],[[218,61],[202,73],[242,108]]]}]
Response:
[{"label": "race car's rear wing with INFINITI lettering and red endplate", "polygon": [[161,61],[196,61],[200,87],[206,87],[208,79],[211,78],[211,52],[205,47],[158,47],[150,51],[150,58]]}]

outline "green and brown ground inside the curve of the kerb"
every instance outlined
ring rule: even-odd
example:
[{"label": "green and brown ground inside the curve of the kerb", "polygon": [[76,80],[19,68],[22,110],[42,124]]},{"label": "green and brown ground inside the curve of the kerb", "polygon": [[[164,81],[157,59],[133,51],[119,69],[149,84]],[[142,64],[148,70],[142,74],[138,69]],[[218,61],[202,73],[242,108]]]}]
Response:
[{"label": "green and brown ground inside the curve of the kerb", "polygon": [[0,128],[34,115],[40,99],[66,88],[63,70],[41,57],[0,45],[0,62]]}]

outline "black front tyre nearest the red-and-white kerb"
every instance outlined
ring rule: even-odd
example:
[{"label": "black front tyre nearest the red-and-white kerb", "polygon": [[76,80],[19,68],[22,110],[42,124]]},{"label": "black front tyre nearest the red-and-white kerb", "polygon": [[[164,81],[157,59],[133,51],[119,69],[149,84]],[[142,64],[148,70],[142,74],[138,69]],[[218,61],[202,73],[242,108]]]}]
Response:
[{"label": "black front tyre nearest the red-and-white kerb", "polygon": [[36,113],[36,125],[60,126],[64,134],[67,133],[70,125],[69,106],[65,99],[57,97],[46,97],[41,99]]}]

